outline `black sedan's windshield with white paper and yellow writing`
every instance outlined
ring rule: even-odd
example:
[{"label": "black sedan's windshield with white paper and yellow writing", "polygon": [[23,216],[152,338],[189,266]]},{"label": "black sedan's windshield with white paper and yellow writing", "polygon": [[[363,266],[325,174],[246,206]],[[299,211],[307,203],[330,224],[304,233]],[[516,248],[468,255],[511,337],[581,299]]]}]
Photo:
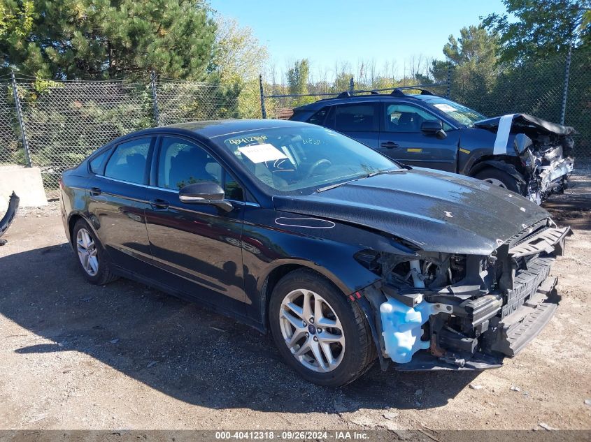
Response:
[{"label": "black sedan's windshield with white paper and yellow writing", "polygon": [[308,194],[331,184],[399,170],[399,166],[340,133],[322,127],[270,128],[213,138],[250,175],[283,193]]}]

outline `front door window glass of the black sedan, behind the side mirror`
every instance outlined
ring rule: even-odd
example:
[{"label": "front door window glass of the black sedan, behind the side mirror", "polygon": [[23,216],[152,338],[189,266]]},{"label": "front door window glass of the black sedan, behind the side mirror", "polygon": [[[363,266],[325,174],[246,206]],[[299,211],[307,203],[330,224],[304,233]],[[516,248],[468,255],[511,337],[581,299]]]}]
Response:
[{"label": "front door window glass of the black sedan, behind the side mirror", "polygon": [[243,200],[240,185],[204,149],[180,138],[162,138],[158,159],[158,186],[178,190],[187,184],[204,181],[220,184],[226,198]]}]

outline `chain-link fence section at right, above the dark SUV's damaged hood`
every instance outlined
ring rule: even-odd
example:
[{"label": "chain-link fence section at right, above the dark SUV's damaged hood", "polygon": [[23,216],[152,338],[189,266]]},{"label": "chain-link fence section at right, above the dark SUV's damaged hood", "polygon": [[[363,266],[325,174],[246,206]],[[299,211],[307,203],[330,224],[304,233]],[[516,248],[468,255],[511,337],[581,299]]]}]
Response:
[{"label": "chain-link fence section at right, above the dark SUV's damaged hood", "polygon": [[590,48],[527,61],[485,78],[455,68],[450,98],[490,117],[524,113],[573,126],[576,156],[591,156]]}]

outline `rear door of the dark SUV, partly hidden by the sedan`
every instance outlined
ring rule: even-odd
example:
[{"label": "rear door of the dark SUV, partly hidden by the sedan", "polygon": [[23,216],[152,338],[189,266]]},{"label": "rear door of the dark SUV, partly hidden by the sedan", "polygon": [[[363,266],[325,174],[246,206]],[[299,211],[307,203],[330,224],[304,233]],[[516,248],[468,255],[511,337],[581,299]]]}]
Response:
[{"label": "rear door of the dark SUV, partly hidden by the sedan", "polygon": [[362,101],[333,106],[325,125],[329,128],[355,138],[355,140],[378,148],[379,140],[378,101]]}]

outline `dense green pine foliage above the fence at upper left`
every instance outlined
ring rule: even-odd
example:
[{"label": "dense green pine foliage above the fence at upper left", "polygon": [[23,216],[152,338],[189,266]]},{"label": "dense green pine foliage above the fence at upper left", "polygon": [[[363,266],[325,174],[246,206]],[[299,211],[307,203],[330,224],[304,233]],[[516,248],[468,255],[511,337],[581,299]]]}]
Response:
[{"label": "dense green pine foliage above the fence at upper left", "polygon": [[203,80],[215,24],[203,0],[2,0],[0,66],[55,79]]}]

